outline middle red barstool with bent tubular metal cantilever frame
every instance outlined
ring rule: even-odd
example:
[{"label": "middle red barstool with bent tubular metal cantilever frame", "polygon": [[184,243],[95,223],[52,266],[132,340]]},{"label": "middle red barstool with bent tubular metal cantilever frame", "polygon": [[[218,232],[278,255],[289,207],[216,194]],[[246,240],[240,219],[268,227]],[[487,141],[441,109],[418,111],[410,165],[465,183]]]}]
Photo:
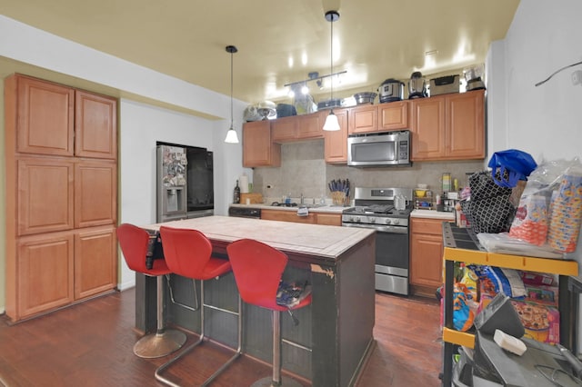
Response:
[{"label": "middle red barstool with bent tubular metal cantilever frame", "polygon": [[238,348],[236,353],[224,363],[216,372],[214,372],[206,382],[202,385],[206,386],[212,382],[218,374],[226,370],[230,363],[234,362],[242,353],[242,302],[238,298],[238,312],[229,311],[223,308],[216,307],[205,303],[204,299],[204,283],[206,280],[218,278],[226,273],[230,273],[230,262],[226,259],[215,258],[212,256],[212,244],[206,238],[204,233],[192,229],[179,229],[166,226],[160,227],[160,234],[162,236],[162,243],[164,245],[164,255],[166,257],[167,266],[172,273],[181,275],[192,280],[200,281],[200,337],[198,340],[180,352],[175,358],[169,362],[162,364],[156,370],[156,380],[164,382],[168,385],[176,386],[176,383],[169,381],[161,375],[172,363],[176,362],[187,352],[190,352],[198,344],[205,339],[205,307],[216,311],[234,314],[238,317]]}]

